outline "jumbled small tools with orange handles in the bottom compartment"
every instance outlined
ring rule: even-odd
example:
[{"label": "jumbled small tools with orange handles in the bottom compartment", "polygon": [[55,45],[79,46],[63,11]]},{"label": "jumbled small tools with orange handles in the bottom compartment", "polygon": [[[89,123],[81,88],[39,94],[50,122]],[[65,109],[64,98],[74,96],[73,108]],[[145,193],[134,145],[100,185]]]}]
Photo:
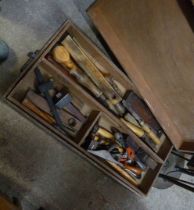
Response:
[{"label": "jumbled small tools with orange handles in the bottom compartment", "polygon": [[141,182],[148,167],[154,170],[157,166],[129,135],[114,127],[109,131],[97,124],[83,147],[89,153],[106,160],[136,186]]}]

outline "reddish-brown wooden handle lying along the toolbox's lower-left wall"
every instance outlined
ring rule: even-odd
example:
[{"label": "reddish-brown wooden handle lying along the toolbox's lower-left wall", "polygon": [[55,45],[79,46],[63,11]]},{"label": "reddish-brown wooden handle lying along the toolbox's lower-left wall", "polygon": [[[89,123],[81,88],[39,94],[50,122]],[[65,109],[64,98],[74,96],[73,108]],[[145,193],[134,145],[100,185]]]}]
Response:
[{"label": "reddish-brown wooden handle lying along the toolbox's lower-left wall", "polygon": [[29,99],[25,98],[22,101],[22,104],[30,109],[32,112],[36,113],[39,117],[41,117],[43,120],[48,122],[49,124],[55,124],[54,118],[52,118],[48,113],[40,110],[37,106],[35,106]]}]

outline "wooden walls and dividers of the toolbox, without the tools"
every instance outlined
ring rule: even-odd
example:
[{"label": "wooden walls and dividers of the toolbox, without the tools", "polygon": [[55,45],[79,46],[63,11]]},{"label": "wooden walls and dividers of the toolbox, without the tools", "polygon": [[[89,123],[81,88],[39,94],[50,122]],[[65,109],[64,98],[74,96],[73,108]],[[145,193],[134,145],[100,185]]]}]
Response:
[{"label": "wooden walls and dividers of the toolbox, without the tools", "polygon": [[[153,151],[148,145],[146,145],[139,137],[137,137],[117,116],[115,116],[108,108],[103,106],[93,95],[91,95],[85,88],[80,86],[74,78],[67,74],[64,69],[53,62],[50,59],[50,53],[54,46],[60,43],[67,34],[76,37],[81,46],[90,54],[98,63],[108,69],[110,74],[118,80],[123,87],[127,90],[133,90],[137,95],[139,95],[137,88],[134,84],[127,78],[127,76],[121,72],[107,57],[84,35],[80,29],[78,29],[70,21],[67,21],[57,33],[48,41],[48,43],[39,52],[34,61],[26,67],[26,69],[21,73],[20,77],[13,84],[12,87],[7,91],[5,95],[6,102],[13,108],[18,110],[21,114],[27,116],[36,125],[41,126],[41,128],[49,131],[51,135],[57,138],[59,141],[63,142],[66,146],[69,146],[73,151],[80,154],[82,157],[86,158],[97,168],[102,170],[108,176],[112,177],[114,180],[125,186],[126,188],[132,190],[138,195],[147,195],[150,188],[152,187],[157,175],[164,164],[168,154],[171,152],[172,144],[168,137],[162,140],[161,145],[158,147],[157,151]],[[67,136],[56,127],[50,125],[40,116],[35,114],[26,108],[21,101],[24,99],[26,92],[31,89],[34,90],[35,87],[35,74],[34,70],[39,67],[47,76],[51,76],[54,81],[54,86],[57,89],[66,87],[68,91],[72,94],[73,98],[75,96],[79,98],[79,103],[84,104],[84,113],[86,120],[81,125],[80,129],[76,132],[75,136]],[[86,105],[86,108],[85,108]],[[103,126],[114,126],[123,133],[129,135],[133,141],[152,159],[155,161],[157,166],[153,169],[148,168],[143,175],[143,178],[138,186],[134,186],[125,177],[119,174],[114,168],[112,168],[108,163],[105,163],[102,159],[89,154],[83,147],[88,135],[94,128],[94,126],[99,122]],[[108,127],[107,127],[108,129]]]}]

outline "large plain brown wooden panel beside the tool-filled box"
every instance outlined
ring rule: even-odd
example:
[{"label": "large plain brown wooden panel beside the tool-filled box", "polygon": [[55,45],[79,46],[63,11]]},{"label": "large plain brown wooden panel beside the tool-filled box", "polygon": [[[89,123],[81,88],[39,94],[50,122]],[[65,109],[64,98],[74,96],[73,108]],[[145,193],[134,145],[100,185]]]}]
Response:
[{"label": "large plain brown wooden panel beside the tool-filled box", "polygon": [[194,144],[194,36],[178,2],[98,0],[88,12],[176,148]]}]

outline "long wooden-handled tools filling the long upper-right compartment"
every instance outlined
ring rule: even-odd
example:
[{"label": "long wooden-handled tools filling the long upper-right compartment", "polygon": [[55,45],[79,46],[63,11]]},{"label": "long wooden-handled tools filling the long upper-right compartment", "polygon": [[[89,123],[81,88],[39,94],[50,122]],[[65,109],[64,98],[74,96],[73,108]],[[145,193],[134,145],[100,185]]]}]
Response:
[{"label": "long wooden-handled tools filling the long upper-right compartment", "polygon": [[53,48],[48,60],[60,64],[62,71],[68,72],[153,151],[158,151],[166,137],[147,105],[132,90],[126,90],[75,37],[67,35]]}]

